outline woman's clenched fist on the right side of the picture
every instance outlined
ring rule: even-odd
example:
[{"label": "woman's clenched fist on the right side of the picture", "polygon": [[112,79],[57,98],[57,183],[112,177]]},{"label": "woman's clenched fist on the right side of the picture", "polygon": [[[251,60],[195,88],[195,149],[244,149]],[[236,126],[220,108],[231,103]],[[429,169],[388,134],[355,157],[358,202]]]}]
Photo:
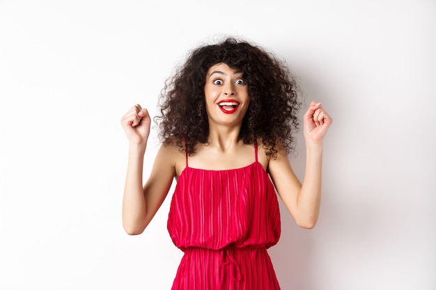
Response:
[{"label": "woman's clenched fist on the right side of the picture", "polygon": [[312,101],[304,114],[303,128],[306,144],[322,144],[327,129],[332,124],[333,119],[322,108],[321,103]]}]

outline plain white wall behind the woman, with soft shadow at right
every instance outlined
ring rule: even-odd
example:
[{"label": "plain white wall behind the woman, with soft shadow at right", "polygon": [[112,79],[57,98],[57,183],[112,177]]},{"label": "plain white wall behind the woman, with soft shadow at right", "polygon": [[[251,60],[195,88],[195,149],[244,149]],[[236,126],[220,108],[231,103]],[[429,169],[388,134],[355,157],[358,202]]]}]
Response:
[{"label": "plain white wall behind the woman, with soft shadow at right", "polygon": [[0,0],[0,289],[171,288],[173,189],[123,232],[119,120],[155,115],[187,51],[222,35],[286,59],[334,118],[318,225],[281,207],[282,289],[436,289],[436,2],[155,2]]}]

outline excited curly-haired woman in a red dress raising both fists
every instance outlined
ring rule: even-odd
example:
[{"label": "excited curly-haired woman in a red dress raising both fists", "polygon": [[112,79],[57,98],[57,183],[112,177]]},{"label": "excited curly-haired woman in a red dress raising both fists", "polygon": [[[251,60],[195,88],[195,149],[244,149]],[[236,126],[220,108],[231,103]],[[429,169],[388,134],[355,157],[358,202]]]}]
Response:
[{"label": "excited curly-haired woman in a red dress raising both fists", "polygon": [[280,289],[266,250],[280,236],[275,190],[297,225],[316,224],[322,139],[332,124],[311,102],[300,183],[287,157],[299,125],[297,97],[286,65],[264,49],[233,38],[198,47],[162,92],[163,144],[145,185],[150,116],[139,105],[123,116],[128,234],[143,232],[177,180],[167,226],[185,255],[172,289]]}]

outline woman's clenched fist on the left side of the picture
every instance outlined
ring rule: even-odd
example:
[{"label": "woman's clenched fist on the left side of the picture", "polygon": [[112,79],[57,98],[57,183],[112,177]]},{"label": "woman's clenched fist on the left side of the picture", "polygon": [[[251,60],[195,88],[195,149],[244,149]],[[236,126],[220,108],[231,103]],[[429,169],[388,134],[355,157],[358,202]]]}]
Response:
[{"label": "woman's clenched fist on the left side of the picture", "polygon": [[130,145],[146,145],[150,134],[151,119],[146,108],[136,104],[121,118],[121,125]]}]

